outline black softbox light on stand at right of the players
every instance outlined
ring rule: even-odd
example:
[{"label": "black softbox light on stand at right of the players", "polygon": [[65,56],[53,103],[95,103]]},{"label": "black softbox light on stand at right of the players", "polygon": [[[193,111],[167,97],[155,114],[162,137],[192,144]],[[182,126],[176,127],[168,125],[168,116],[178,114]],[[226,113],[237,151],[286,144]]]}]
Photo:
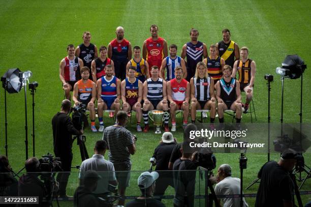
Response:
[{"label": "black softbox light on stand at right of the players", "polygon": [[300,78],[301,74],[304,72],[306,65],[303,59],[298,55],[287,55],[282,62],[282,67],[290,70],[289,78],[297,79]]}]

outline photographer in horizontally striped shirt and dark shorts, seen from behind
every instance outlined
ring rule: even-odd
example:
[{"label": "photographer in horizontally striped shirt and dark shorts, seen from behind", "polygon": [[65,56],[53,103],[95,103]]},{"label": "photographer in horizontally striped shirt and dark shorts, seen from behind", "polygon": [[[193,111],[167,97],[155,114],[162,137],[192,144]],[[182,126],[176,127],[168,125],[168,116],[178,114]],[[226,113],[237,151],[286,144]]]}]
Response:
[{"label": "photographer in horizontally striped shirt and dark shorts, seen from behind", "polygon": [[[131,131],[125,128],[128,121],[128,114],[125,111],[119,111],[116,115],[117,123],[105,128],[103,140],[108,144],[108,158],[113,163],[115,176],[118,182],[118,193],[125,196],[126,188],[130,183],[130,170],[132,167],[131,155],[136,151],[136,137]],[[120,199],[119,205],[124,204]]]}]

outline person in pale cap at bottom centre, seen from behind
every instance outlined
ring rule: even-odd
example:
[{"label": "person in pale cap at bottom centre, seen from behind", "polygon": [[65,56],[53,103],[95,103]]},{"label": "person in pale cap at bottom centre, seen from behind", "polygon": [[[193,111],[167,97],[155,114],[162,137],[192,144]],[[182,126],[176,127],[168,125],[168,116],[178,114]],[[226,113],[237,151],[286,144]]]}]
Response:
[{"label": "person in pale cap at bottom centre, seen from behind", "polygon": [[152,193],[155,188],[155,180],[159,178],[158,172],[143,172],[138,178],[138,187],[141,191],[141,196],[135,198],[134,200],[128,202],[126,207],[164,207],[165,205],[154,198],[152,198]]}]

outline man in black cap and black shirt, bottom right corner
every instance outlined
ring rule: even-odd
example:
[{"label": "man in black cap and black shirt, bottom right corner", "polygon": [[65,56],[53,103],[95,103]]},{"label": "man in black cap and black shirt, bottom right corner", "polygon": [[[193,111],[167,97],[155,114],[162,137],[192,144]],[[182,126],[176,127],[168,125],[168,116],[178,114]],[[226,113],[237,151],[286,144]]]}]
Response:
[{"label": "man in black cap and black shirt, bottom right corner", "polygon": [[256,207],[289,207],[293,206],[294,184],[291,171],[299,155],[283,153],[278,162],[265,163],[258,172],[261,179],[256,197]]}]

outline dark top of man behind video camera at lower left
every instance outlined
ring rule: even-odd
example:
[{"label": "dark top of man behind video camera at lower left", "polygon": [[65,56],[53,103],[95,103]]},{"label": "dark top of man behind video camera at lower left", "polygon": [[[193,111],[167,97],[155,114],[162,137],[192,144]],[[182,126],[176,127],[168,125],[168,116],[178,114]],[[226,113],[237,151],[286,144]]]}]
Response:
[{"label": "dark top of man behind video camera at lower left", "polygon": [[[46,206],[42,202],[43,197],[46,195],[44,184],[39,180],[38,174],[22,175],[18,181],[18,195],[19,196],[39,196],[40,206]],[[37,206],[38,204],[29,204],[22,206]]]}]

